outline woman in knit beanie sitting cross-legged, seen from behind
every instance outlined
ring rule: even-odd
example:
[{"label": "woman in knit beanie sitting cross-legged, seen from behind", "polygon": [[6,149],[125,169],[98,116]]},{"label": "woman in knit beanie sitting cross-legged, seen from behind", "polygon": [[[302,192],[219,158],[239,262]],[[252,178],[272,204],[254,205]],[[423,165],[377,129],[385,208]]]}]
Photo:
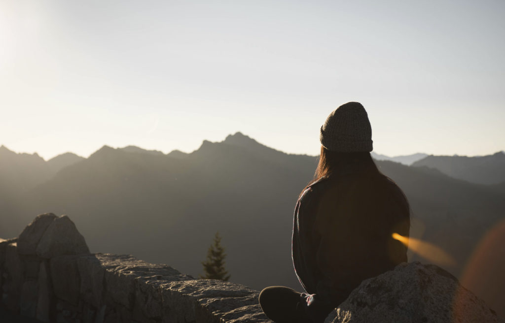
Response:
[{"label": "woman in knit beanie sitting cross-legged, seen from behind", "polygon": [[314,180],[294,211],[292,257],[306,293],[272,286],[260,293],[265,314],[277,323],[323,322],[367,278],[407,262],[409,203],[370,156],[372,130],[365,108],[349,102],[321,126]]}]

